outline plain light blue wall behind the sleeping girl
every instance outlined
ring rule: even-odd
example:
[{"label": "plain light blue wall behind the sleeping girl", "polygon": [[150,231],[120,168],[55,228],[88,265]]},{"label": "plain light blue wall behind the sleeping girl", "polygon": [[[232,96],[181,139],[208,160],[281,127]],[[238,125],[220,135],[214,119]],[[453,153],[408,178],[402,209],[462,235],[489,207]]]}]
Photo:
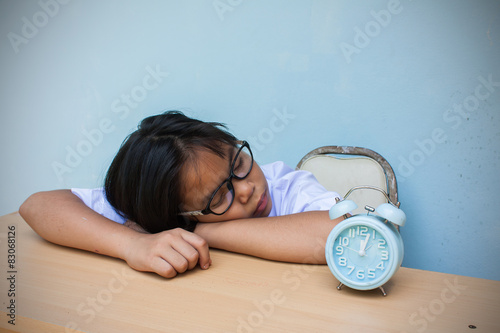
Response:
[{"label": "plain light blue wall behind the sleeping girl", "polygon": [[0,214],[99,186],[165,109],[261,163],[329,144],[397,172],[403,265],[500,280],[498,1],[1,1]]}]

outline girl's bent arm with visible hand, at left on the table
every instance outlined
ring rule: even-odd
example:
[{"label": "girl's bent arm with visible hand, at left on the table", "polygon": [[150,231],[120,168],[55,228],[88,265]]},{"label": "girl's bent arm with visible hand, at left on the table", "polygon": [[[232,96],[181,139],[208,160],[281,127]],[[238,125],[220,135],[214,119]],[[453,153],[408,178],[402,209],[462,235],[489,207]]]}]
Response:
[{"label": "girl's bent arm with visible hand, at left on the table", "polygon": [[202,237],[183,229],[133,230],[94,212],[70,190],[35,193],[19,213],[47,241],[120,258],[139,271],[173,277],[198,262],[202,268],[210,265]]}]

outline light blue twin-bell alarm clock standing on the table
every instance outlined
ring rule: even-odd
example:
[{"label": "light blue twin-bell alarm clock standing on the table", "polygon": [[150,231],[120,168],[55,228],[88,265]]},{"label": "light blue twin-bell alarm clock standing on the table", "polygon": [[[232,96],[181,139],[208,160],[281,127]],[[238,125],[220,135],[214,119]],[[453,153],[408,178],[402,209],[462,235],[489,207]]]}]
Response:
[{"label": "light blue twin-bell alarm clock standing on the table", "polygon": [[[377,208],[365,206],[366,214],[348,217],[357,208],[356,203],[346,200],[358,189],[377,190],[385,195],[387,203]],[[338,200],[338,199],[337,199]],[[337,289],[343,285],[357,290],[380,288],[396,273],[403,261],[403,239],[399,226],[406,222],[405,213],[391,203],[387,193],[373,186],[357,186],[337,201],[329,212],[330,218],[344,216],[330,232],[325,246],[325,256],[332,274],[339,280]]]}]

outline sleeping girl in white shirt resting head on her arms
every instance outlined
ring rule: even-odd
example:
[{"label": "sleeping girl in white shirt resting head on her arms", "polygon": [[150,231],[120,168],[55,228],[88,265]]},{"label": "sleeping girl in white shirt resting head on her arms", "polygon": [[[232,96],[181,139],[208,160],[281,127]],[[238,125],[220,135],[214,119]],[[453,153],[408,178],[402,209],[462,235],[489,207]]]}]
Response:
[{"label": "sleeping girl in white shirt resting head on her arms", "polygon": [[39,192],[19,212],[41,237],[170,278],[211,265],[209,246],[325,263],[339,195],[282,162],[260,167],[220,123],[171,111],[122,144],[104,188]]}]

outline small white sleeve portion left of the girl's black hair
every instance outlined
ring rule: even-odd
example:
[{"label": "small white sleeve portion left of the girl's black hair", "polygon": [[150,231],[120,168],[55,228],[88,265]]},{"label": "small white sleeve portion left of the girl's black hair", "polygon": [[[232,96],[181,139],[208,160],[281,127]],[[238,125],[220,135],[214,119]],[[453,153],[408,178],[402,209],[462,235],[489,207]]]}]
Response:
[{"label": "small white sleeve portion left of the girl's black hair", "polygon": [[102,216],[120,224],[123,224],[127,221],[127,219],[118,214],[118,212],[108,202],[108,200],[106,199],[104,188],[72,188],[71,192],[78,198],[80,198],[85,203],[85,205],[87,205],[87,207],[89,207],[96,213],[101,214]]}]

